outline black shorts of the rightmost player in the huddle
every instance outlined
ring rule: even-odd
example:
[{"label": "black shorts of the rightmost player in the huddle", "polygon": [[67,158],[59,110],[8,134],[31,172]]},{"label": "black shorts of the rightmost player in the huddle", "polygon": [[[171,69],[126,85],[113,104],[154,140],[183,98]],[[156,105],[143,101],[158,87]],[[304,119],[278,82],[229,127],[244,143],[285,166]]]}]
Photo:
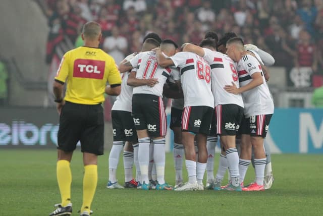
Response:
[{"label": "black shorts of the rightmost player in the huddle", "polygon": [[241,134],[249,134],[250,136],[260,136],[265,138],[268,132],[268,127],[273,114],[251,116],[243,118],[241,123]]}]

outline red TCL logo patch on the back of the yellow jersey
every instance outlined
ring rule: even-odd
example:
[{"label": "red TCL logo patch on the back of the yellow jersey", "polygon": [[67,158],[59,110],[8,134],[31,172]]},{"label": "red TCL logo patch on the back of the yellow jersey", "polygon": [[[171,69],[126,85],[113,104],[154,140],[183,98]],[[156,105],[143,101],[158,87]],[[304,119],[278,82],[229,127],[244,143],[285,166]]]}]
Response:
[{"label": "red TCL logo patch on the back of the yellow jersey", "polygon": [[74,62],[73,77],[103,79],[105,62],[98,60],[77,59]]}]

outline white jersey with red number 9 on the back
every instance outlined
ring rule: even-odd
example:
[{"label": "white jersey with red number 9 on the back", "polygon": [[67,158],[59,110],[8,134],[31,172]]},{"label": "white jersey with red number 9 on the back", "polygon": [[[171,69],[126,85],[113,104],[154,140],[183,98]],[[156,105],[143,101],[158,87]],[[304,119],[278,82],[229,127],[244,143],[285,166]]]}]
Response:
[{"label": "white jersey with red number 9 on the back", "polygon": [[218,104],[237,104],[243,107],[241,94],[232,94],[224,89],[225,85],[232,85],[232,82],[239,88],[239,78],[234,61],[221,52],[212,51],[207,48],[203,49],[203,58],[211,67],[214,107]]}]

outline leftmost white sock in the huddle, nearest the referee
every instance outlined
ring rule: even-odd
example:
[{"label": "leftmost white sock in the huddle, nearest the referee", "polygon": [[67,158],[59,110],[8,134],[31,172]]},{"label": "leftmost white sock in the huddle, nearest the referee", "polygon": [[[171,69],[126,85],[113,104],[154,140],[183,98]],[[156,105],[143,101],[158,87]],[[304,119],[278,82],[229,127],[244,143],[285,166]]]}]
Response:
[{"label": "leftmost white sock in the huddle, nearest the referee", "polygon": [[113,142],[109,154],[109,181],[115,183],[117,181],[117,167],[119,163],[120,153],[125,145],[124,141]]}]

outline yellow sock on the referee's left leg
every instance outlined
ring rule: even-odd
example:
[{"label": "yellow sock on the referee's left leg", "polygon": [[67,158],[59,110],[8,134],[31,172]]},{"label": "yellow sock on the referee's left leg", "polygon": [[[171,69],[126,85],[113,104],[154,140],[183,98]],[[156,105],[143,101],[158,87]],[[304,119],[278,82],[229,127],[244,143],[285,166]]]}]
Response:
[{"label": "yellow sock on the referee's left leg", "polygon": [[70,162],[67,160],[57,161],[56,174],[62,197],[62,206],[66,206],[71,202],[72,173]]}]

